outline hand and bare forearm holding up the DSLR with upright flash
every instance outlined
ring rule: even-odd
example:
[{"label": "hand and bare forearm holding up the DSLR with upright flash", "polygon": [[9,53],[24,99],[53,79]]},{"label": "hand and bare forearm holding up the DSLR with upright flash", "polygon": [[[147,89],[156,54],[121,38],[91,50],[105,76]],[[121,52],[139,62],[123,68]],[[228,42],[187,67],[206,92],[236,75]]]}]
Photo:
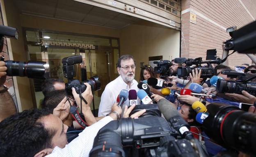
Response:
[{"label": "hand and bare forearm holding up the DSLR with upright flash", "polygon": [[97,122],[97,120],[95,119],[94,115],[91,112],[91,108],[90,108],[90,104],[93,98],[92,92],[91,92],[91,85],[89,85],[88,83],[84,83],[87,87],[86,90],[82,93],[82,97],[87,101],[87,104],[85,104],[85,102],[82,100],[82,104],[81,104],[81,100],[79,97],[79,94],[76,93],[75,88],[72,88],[72,94],[75,98],[75,102],[76,104],[81,108],[82,107],[82,113],[85,116],[85,121],[88,125],[92,125],[94,123]]}]

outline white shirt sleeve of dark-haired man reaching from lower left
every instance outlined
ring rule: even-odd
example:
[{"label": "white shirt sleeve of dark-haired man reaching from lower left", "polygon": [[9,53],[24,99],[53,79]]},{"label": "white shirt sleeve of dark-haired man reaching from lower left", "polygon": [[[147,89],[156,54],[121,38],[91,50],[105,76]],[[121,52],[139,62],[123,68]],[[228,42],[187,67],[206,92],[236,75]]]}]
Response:
[{"label": "white shirt sleeve of dark-haired man reaching from lower left", "polygon": [[46,157],[89,157],[98,131],[113,119],[110,116],[85,128],[78,137],[73,139],[65,148],[55,147],[53,152]]}]

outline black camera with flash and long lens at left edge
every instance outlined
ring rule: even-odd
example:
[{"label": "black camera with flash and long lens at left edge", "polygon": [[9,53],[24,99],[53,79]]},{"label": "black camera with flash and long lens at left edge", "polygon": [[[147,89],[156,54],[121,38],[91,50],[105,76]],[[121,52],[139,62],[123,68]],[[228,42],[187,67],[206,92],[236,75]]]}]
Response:
[{"label": "black camera with flash and long lens at left edge", "polygon": [[[0,25],[0,50],[2,51],[5,38],[18,39],[18,31],[15,28]],[[0,61],[5,61],[5,57],[0,57]],[[26,76],[28,78],[45,79],[46,62],[28,61],[20,62],[14,60],[5,61],[7,76]]]}]

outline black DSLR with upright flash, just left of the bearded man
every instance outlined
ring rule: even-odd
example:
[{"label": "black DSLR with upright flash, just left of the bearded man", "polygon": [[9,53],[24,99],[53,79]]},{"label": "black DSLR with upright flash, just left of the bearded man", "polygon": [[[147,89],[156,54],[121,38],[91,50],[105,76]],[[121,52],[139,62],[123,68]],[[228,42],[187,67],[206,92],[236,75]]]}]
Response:
[{"label": "black DSLR with upright flash, just left of the bearded man", "polygon": [[65,84],[65,90],[68,95],[72,95],[72,87],[75,88],[76,93],[83,93],[86,90],[86,85],[84,84],[84,82],[91,85],[91,91],[97,91],[101,88],[101,82],[98,80],[98,75],[95,75],[82,83],[80,83],[79,80],[73,79],[73,77],[75,76],[74,64],[78,64],[81,62],[82,55],[74,55],[62,59],[63,74],[64,77],[68,79],[68,83]]}]

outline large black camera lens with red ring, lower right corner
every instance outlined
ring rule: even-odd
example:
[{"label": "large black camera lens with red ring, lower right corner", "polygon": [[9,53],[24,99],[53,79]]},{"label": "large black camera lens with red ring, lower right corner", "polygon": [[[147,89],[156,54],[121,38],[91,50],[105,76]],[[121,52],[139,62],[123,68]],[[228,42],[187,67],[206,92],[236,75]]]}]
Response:
[{"label": "large black camera lens with red ring, lower right corner", "polygon": [[207,106],[203,130],[217,144],[250,155],[256,154],[256,115],[226,104]]}]

